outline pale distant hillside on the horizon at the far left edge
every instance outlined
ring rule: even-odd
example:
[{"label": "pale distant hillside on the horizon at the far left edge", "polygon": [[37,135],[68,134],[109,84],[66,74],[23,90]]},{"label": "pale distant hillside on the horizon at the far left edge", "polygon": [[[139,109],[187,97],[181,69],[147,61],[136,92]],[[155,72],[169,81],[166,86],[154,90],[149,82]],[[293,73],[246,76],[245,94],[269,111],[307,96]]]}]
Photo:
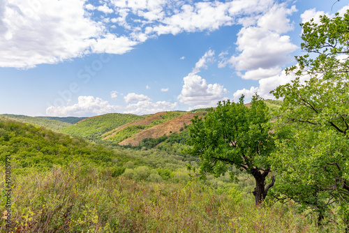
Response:
[{"label": "pale distant hillside on the horizon at the far left edge", "polygon": [[[28,117],[24,115],[14,115],[14,114],[2,114],[0,117],[6,119],[11,119],[13,121],[21,121],[26,123],[32,123],[37,126],[43,126],[51,130],[60,130],[61,128],[66,128],[71,125],[71,123],[59,121],[54,119],[54,117]],[[73,119],[74,117],[72,117]]]}]

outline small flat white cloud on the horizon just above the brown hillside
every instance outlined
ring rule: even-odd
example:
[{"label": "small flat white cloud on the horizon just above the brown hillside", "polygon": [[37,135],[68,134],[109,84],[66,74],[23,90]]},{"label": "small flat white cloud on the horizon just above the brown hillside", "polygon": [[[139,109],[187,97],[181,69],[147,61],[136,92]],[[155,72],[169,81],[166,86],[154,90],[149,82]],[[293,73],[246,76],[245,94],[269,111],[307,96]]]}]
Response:
[{"label": "small flat white cloud on the horizon just above the brown hillside", "polygon": [[124,113],[132,114],[154,114],[156,112],[171,111],[177,103],[170,103],[166,101],[158,101],[153,103],[149,100],[140,101],[138,103],[130,104],[126,107]]}]

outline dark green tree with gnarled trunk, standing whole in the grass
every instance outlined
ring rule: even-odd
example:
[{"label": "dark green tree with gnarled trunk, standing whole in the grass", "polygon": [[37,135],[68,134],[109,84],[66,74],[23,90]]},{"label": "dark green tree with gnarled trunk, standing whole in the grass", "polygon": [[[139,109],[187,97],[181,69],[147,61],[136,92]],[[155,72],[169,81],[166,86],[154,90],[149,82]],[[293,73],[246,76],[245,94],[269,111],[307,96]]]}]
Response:
[{"label": "dark green tree with gnarled trunk, standing whole in the grass", "polygon": [[239,103],[218,102],[216,110],[209,112],[205,121],[198,116],[192,120],[188,140],[192,147],[186,151],[200,157],[202,174],[220,176],[233,166],[252,174],[256,181],[255,204],[260,204],[274,184],[273,179],[265,188],[270,172],[267,159],[274,149],[269,120],[268,108],[257,95],[253,96],[251,107],[244,105],[244,96]]}]

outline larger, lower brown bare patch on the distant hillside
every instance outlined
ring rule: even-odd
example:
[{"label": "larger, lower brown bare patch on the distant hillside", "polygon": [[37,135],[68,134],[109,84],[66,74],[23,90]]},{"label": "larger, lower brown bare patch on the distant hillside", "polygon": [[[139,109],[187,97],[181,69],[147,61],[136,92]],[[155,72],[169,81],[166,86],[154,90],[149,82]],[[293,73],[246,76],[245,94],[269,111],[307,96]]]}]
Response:
[{"label": "larger, lower brown bare patch on the distant hillside", "polygon": [[136,146],[142,142],[144,138],[157,138],[163,135],[170,135],[170,131],[172,133],[179,133],[179,129],[184,127],[184,123],[186,125],[191,123],[191,119],[195,115],[202,115],[202,112],[195,112],[182,115],[181,117],[174,118],[170,121],[166,121],[164,123],[158,124],[157,126],[153,126],[148,128],[147,130],[143,130],[138,134],[133,135],[132,137],[128,137],[128,139],[119,143],[119,145],[124,146],[131,143],[132,146]]}]

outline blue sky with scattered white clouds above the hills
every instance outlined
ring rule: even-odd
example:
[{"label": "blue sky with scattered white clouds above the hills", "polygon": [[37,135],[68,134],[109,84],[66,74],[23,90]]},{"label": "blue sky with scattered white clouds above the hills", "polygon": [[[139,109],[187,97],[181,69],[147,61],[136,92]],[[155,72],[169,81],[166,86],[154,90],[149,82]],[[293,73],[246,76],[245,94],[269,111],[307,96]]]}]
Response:
[{"label": "blue sky with scattered white clouds above the hills", "polygon": [[300,23],[348,0],[1,0],[0,114],[91,117],[246,103],[292,80]]}]

